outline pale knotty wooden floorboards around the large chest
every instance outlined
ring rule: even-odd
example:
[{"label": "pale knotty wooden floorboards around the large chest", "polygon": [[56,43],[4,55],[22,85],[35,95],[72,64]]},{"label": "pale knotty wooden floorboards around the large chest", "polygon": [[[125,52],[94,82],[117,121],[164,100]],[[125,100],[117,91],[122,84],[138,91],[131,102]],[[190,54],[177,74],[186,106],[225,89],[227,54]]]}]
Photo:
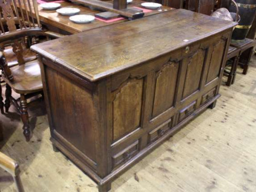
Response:
[{"label": "pale knotty wooden floorboards around the large chest", "polygon": [[[234,85],[221,86],[222,97],[213,110],[122,174],[111,191],[256,191],[256,59],[247,75],[241,72]],[[5,134],[1,151],[19,162],[25,190],[98,191],[89,177],[52,150],[43,107],[38,111],[30,113],[35,130],[28,143],[15,110],[12,119],[0,115]],[[2,170],[0,191],[15,191]]]}]

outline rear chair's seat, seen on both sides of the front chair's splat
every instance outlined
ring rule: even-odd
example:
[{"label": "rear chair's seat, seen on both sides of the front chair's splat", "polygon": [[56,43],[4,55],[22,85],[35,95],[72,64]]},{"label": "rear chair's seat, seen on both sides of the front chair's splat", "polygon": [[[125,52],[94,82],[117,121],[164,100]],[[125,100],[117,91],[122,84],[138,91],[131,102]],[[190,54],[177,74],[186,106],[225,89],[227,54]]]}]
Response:
[{"label": "rear chair's seat, seen on both sides of the front chair's splat", "polygon": [[[36,60],[36,53],[31,51],[30,49],[27,49],[26,47],[23,47],[22,56],[25,62]],[[13,53],[12,48],[4,50],[4,57],[9,67],[18,65],[17,56],[15,55],[15,53]]]}]

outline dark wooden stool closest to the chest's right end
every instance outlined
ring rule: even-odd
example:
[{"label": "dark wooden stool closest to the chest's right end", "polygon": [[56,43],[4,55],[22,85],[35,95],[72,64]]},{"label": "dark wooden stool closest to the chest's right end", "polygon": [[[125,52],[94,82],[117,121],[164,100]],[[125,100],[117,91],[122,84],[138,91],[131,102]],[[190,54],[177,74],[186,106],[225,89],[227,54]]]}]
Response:
[{"label": "dark wooden stool closest to the chest's right end", "polygon": [[240,49],[237,47],[229,46],[228,48],[228,55],[226,59],[226,66],[227,61],[232,60],[231,69],[230,71],[225,70],[224,75],[228,76],[228,81],[226,82],[227,86],[234,84],[236,78],[236,68],[239,60]]}]

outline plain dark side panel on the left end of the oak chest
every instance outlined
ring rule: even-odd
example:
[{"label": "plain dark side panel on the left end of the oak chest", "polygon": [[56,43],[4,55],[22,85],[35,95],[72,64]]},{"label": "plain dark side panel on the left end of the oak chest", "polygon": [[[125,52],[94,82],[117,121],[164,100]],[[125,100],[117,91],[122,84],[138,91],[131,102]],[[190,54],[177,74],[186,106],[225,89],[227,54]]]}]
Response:
[{"label": "plain dark side panel on the left end of the oak chest", "polygon": [[[45,65],[47,95],[54,139],[80,151],[84,163],[96,169],[95,122],[92,92]],[[54,83],[51,83],[54,82]]]}]

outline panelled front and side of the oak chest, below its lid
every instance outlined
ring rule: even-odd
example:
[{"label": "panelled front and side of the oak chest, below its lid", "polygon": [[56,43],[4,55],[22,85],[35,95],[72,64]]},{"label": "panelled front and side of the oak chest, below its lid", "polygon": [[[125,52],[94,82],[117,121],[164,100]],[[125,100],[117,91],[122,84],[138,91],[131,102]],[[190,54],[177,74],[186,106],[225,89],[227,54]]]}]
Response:
[{"label": "panelled front and side of the oak chest, below its lid", "polygon": [[219,97],[229,34],[95,83],[43,58],[54,145],[95,180],[121,172]]}]

